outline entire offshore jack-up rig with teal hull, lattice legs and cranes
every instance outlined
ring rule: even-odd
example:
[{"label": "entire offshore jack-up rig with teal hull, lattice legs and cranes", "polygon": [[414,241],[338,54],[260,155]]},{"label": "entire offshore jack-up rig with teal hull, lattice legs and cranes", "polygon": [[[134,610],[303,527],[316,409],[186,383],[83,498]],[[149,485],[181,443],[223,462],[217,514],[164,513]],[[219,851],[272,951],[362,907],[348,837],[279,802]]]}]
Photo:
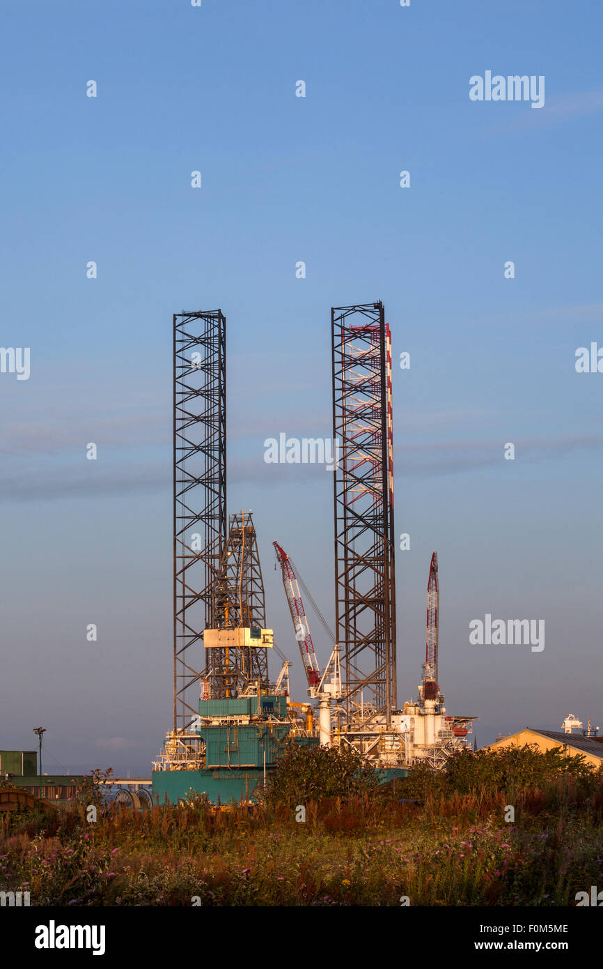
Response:
[{"label": "entire offshore jack-up rig with teal hull, lattice legs and cranes", "polygon": [[[173,322],[173,724],[154,762],[155,799],[249,800],[291,744],[348,745],[383,780],[421,761],[441,768],[469,747],[474,717],[446,715],[439,690],[436,552],[418,699],[397,706],[391,333],[382,302],[331,310],[333,632],[273,542],[308,681],[303,702],[289,696],[290,661],[265,614],[253,514],[227,514],[226,317],[182,312]],[[329,657],[317,657],[300,585],[332,643]],[[271,678],[274,652],[282,667]]]}]

